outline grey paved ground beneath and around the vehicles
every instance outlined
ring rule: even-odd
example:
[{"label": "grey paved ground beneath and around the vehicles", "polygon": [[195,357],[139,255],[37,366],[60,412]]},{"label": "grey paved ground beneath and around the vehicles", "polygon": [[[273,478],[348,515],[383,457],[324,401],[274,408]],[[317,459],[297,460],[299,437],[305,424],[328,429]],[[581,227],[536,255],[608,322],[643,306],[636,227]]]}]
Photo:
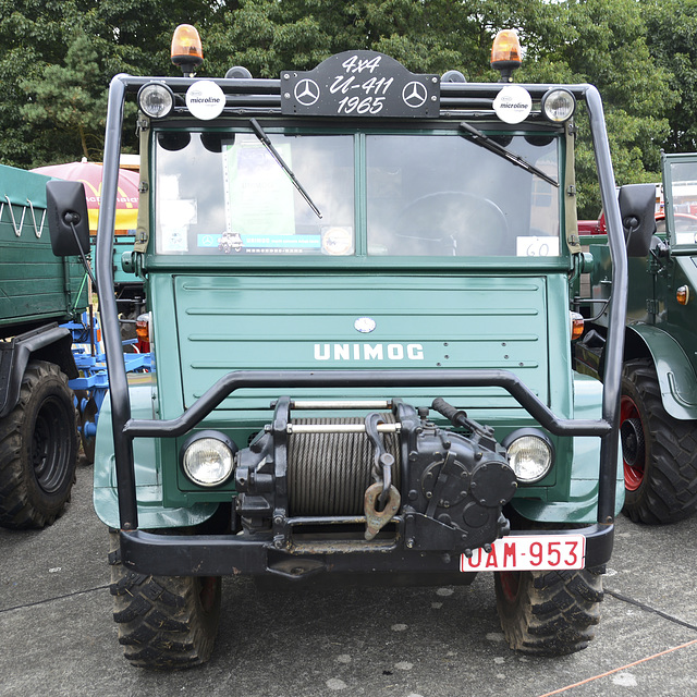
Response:
[{"label": "grey paved ground beneath and around the vehicles", "polygon": [[107,530],[82,466],[66,514],[41,531],[0,530],[0,695],[240,697],[690,697],[697,690],[697,518],[621,518],[591,646],[528,659],[503,643],[493,584],[260,591],[223,588],[216,653],[161,674],[121,657],[107,589]]}]

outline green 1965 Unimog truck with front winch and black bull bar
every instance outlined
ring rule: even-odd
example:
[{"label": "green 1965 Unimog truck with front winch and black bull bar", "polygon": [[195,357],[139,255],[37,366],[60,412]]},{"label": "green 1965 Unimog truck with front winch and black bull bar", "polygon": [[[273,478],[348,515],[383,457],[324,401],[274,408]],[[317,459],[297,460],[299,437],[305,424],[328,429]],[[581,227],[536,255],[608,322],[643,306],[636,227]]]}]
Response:
[{"label": "green 1965 Unimog truck with front winch and black bull bar", "polygon": [[[97,280],[110,286],[101,233],[136,98],[142,197],[123,264],[145,283],[154,364],[127,380],[102,294],[94,497],[126,658],[207,660],[221,577],[240,574],[492,572],[513,648],[584,648],[623,504],[626,256],[598,91],[514,85],[519,59],[498,52],[490,84],[364,50],[278,80],[203,80],[183,30],[182,77],[117,75],[109,94]],[[603,381],[572,363],[570,283],[588,260],[576,101],[620,281]],[[80,192],[49,194],[51,232],[70,240]],[[627,189],[625,215],[640,218],[641,195]]]}]

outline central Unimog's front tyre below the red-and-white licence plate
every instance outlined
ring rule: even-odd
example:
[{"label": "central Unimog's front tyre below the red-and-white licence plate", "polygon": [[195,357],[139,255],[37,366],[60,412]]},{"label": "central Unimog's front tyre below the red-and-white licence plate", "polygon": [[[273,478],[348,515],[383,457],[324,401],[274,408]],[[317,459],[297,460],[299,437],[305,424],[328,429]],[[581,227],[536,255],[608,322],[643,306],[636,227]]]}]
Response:
[{"label": "central Unimog's front tyre below the red-and-white licence plate", "polygon": [[534,656],[585,649],[600,621],[603,572],[496,573],[497,610],[509,646]]}]

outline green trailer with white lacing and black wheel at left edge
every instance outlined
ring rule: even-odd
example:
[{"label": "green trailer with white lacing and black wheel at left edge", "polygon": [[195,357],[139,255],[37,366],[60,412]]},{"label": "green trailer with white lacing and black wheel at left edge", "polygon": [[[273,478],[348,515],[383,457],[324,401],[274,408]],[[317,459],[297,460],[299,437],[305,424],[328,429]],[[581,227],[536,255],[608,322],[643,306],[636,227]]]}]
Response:
[{"label": "green trailer with white lacing and black wheel at left edge", "polygon": [[84,269],[56,257],[49,178],[0,166],[0,525],[42,527],[75,478],[77,377],[71,332],[88,304]]}]

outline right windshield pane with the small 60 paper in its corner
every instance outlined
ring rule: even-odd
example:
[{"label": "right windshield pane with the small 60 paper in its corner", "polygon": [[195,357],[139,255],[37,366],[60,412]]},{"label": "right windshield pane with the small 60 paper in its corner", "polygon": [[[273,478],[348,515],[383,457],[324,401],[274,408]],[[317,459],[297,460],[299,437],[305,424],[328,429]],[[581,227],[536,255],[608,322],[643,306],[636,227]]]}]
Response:
[{"label": "right windshield pane with the small 60 paper in its corner", "polygon": [[[555,140],[505,140],[557,175]],[[370,254],[559,254],[557,188],[462,136],[368,136],[367,180]]]}]

